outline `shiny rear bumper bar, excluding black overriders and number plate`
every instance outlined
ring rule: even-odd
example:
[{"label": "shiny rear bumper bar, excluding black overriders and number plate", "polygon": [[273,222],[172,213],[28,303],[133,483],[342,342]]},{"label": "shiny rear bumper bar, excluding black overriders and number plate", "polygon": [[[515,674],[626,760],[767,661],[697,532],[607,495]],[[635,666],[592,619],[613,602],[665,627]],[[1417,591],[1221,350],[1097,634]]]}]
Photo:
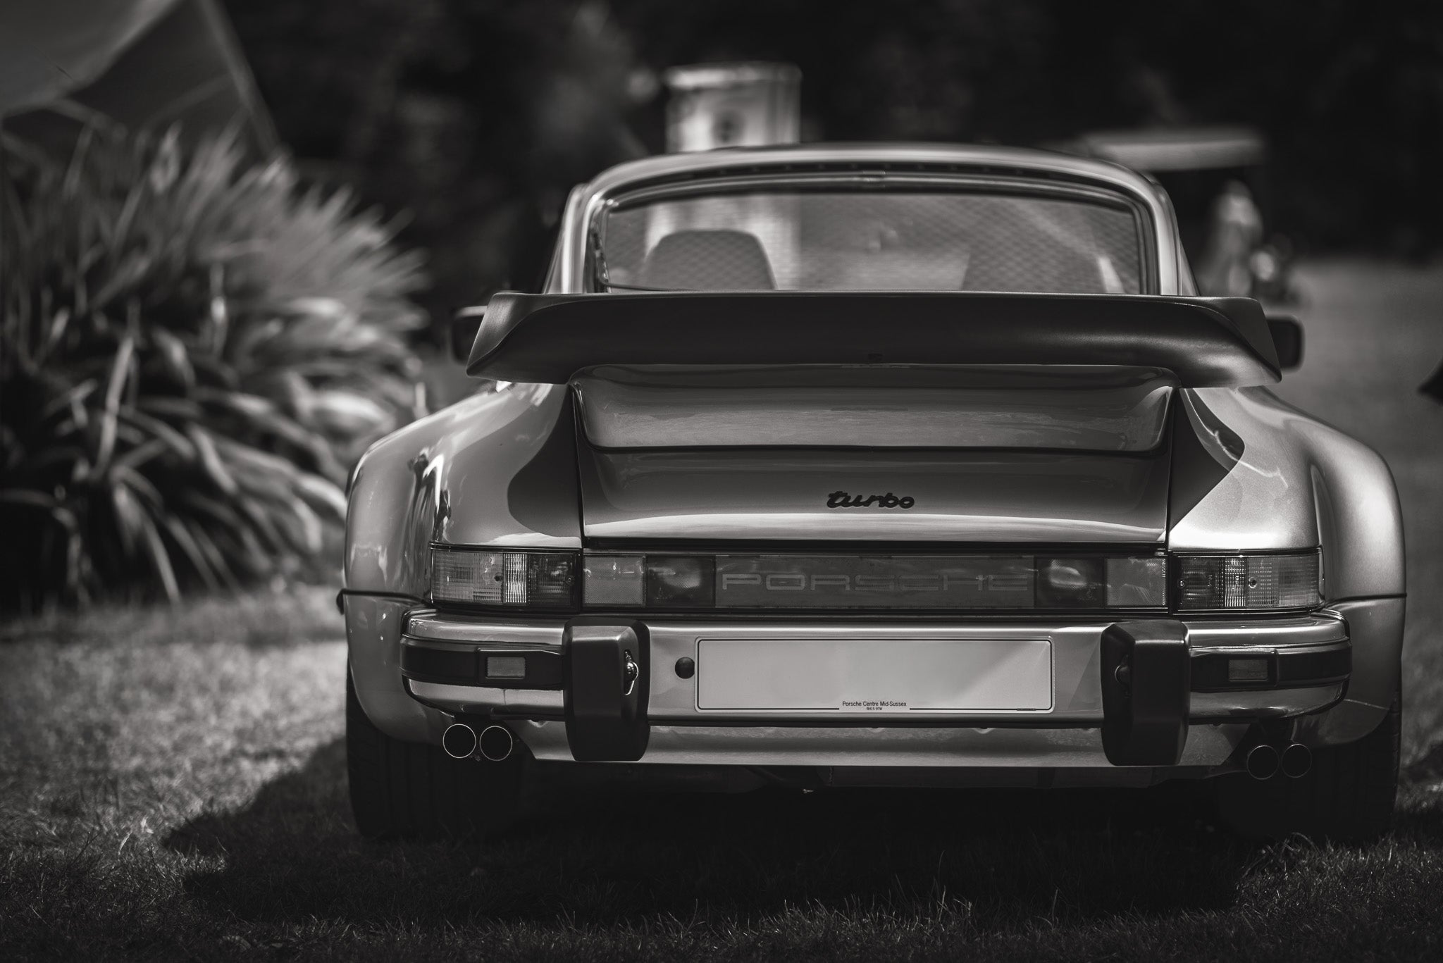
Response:
[{"label": "shiny rear bumper bar, excluding black overriders and number plate", "polygon": [[[602,622],[608,619],[577,619]],[[645,764],[833,767],[1110,767],[1101,732],[1102,635],[1113,622],[762,622],[610,619],[633,624],[645,648],[641,723]],[[1141,625],[1141,624],[1137,624]],[[1291,719],[1336,705],[1352,674],[1346,619],[1306,616],[1169,621],[1185,640],[1186,690],[1176,710],[1180,751],[1166,765],[1218,767],[1258,720]],[[921,710],[882,715],[798,709],[706,707],[703,641],[903,640],[960,642],[1048,640],[1052,697],[1043,709]],[[586,758],[567,735],[566,619],[502,619],[411,611],[398,668],[417,703],[447,716],[505,720],[541,759]],[[635,644],[633,644],[635,645]],[[684,660],[691,660],[687,674]],[[1241,660],[1241,661],[1240,661]],[[1240,661],[1241,671],[1229,674]],[[701,664],[700,671],[697,670]],[[681,666],[678,668],[678,666]],[[1166,713],[1165,713],[1166,715]],[[1115,723],[1117,709],[1111,712]],[[1117,759],[1117,754],[1111,754]],[[609,757],[590,757],[609,758]],[[620,757],[633,758],[633,757]],[[1136,759],[1127,759],[1136,761]]]}]

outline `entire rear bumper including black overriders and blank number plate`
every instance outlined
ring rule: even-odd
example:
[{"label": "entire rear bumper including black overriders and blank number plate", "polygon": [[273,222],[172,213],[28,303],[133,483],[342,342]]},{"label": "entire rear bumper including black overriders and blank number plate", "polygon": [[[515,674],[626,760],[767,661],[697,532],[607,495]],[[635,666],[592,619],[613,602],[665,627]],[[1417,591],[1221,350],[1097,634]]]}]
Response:
[{"label": "entire rear bumper including black overriders and blank number plate", "polygon": [[[416,702],[506,725],[540,759],[583,762],[1214,768],[1235,764],[1250,742],[1278,741],[1287,720],[1338,705],[1354,668],[1348,621],[1329,609],[942,624],[417,608],[404,614],[400,641]],[[965,661],[983,650],[999,655]],[[776,654],[747,663],[737,653]],[[771,690],[810,692],[808,674],[834,673],[857,653],[882,693],[926,689],[909,673],[935,671],[935,653],[961,654],[949,664],[994,673],[980,680],[991,702],[776,707],[785,699],[752,705],[745,694],[769,692],[776,673],[798,681]],[[1036,663],[1039,684],[1010,681],[1016,657]]]}]

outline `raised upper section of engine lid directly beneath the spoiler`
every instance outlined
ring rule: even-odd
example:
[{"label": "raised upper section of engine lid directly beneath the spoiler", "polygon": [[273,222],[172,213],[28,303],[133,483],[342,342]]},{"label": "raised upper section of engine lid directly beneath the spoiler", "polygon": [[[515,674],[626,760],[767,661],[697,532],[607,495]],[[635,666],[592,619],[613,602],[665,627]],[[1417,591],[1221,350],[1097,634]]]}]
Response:
[{"label": "raised upper section of engine lid directly beneath the spoiler", "polygon": [[1004,448],[1149,452],[1176,378],[1089,365],[606,365],[571,381],[602,449]]}]

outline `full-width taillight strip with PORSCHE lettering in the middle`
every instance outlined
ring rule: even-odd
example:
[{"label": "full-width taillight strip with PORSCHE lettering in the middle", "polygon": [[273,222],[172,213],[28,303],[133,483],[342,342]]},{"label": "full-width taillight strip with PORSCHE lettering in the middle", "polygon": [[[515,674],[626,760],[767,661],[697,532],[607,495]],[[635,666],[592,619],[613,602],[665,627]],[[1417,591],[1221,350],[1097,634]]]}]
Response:
[{"label": "full-width taillight strip with PORSCHE lettering in the middle", "polygon": [[[584,562],[584,565],[583,565]],[[1316,608],[1320,553],[642,554],[434,546],[437,603],[590,609],[1274,612]],[[1169,578],[1172,591],[1169,592]]]}]

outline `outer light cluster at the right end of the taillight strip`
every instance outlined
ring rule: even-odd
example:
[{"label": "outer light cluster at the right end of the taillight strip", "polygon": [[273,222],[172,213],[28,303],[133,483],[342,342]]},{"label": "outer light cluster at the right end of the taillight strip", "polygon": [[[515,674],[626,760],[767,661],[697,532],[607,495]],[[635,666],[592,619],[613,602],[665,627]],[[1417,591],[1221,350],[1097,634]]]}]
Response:
[{"label": "outer light cluster at the right end of the taillight strip", "polygon": [[1307,609],[1319,603],[1317,550],[1289,554],[1179,554],[1177,611]]}]

